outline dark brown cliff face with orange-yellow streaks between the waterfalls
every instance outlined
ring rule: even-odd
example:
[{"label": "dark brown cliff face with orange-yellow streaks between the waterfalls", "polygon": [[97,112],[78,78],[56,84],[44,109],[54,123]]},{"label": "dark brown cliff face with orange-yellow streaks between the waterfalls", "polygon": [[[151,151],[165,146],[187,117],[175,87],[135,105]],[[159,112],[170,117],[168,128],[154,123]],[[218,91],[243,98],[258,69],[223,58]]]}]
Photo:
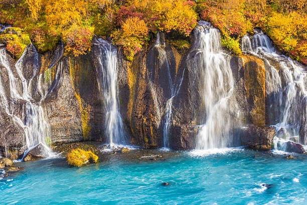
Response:
[{"label": "dark brown cliff face with orange-yellow streaks between the waterfalls", "polygon": [[[202,96],[198,91],[201,73],[195,67],[199,53],[192,46],[179,52],[163,40],[164,35],[161,36],[159,43],[154,39],[145,51],[136,55],[133,62],[126,61],[118,49],[120,115],[131,144],[145,148],[162,147],[167,102],[173,97],[169,146],[177,150],[193,149],[200,117],[204,115]],[[18,66],[29,84],[31,101],[43,108],[52,144],[88,140],[106,142],[104,99],[97,83],[99,49],[94,45],[87,55],[79,57],[63,56],[63,50],[63,45],[59,45],[55,52],[45,54],[38,54],[32,45],[26,49]],[[14,152],[16,158],[21,153],[13,150],[25,150],[26,137],[22,124],[26,118],[26,102],[12,98],[7,67],[17,79],[17,87],[21,87],[23,82],[15,69],[16,62],[8,53],[5,56],[7,60],[1,59],[0,62],[3,87],[0,90],[0,154]],[[268,115],[265,63],[251,55],[230,56],[229,60],[235,79],[230,101],[239,106],[240,126],[256,126],[252,129],[251,138],[242,143],[248,141],[261,147],[254,141],[257,141],[258,130],[266,124]],[[176,94],[172,93],[174,87],[178,88]],[[4,100],[8,101],[8,106],[5,106]],[[301,120],[306,125],[305,119]],[[238,136],[242,132],[246,137],[241,127],[233,132],[238,132]],[[301,136],[306,135],[305,130],[306,126],[301,126]],[[273,132],[269,131],[271,142]],[[265,149],[269,149],[269,143],[262,135],[260,138],[266,142]],[[304,137],[301,139],[305,140]],[[242,145],[241,140],[238,143]]]}]

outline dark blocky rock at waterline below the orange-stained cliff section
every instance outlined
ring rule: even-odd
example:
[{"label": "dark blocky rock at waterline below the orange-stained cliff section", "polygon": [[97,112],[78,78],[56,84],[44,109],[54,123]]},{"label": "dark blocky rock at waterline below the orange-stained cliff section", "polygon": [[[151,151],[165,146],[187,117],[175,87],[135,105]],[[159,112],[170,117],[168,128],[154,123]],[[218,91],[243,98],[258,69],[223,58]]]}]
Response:
[{"label": "dark blocky rock at waterline below the orange-stained cliff section", "polygon": [[275,129],[269,126],[249,125],[242,128],[242,145],[255,150],[271,150]]}]

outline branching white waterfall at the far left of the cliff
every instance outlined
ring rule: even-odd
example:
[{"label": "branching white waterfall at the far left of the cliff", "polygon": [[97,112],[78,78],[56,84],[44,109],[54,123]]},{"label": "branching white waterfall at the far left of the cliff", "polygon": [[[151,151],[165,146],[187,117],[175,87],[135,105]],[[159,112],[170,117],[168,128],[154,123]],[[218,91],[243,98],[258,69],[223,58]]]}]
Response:
[{"label": "branching white waterfall at the far left of the cliff", "polygon": [[[44,147],[44,156],[51,157],[53,156],[53,153],[49,147],[49,143],[51,142],[49,136],[49,125],[46,121],[41,102],[39,102],[39,105],[35,105],[32,102],[33,99],[31,97],[31,82],[33,77],[29,80],[29,83],[27,83],[27,80],[22,73],[22,66],[24,65],[23,60],[25,53],[27,53],[27,49],[29,49],[29,47],[26,48],[25,52],[15,65],[15,71],[18,76],[14,76],[13,74],[13,69],[9,64],[6,50],[0,50],[0,63],[6,68],[10,82],[10,96],[6,96],[4,86],[0,78],[1,105],[5,108],[5,112],[13,118],[14,122],[24,129],[26,136],[25,144],[27,147],[25,153],[28,153],[37,145],[42,144]],[[33,66],[39,66],[38,53],[35,48],[34,51],[35,56]],[[20,81],[22,82],[21,86],[19,85]],[[23,117],[19,117],[14,114],[13,102],[16,100],[25,102]]]}]

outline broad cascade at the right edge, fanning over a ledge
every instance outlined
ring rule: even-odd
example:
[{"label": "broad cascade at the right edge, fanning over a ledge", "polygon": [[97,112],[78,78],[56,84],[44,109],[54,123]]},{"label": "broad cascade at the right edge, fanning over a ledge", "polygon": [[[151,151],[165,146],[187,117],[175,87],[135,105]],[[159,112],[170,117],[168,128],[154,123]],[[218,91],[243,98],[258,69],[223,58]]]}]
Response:
[{"label": "broad cascade at the right edge, fanning over a ledge", "polygon": [[[304,119],[307,117],[305,68],[290,57],[278,54],[269,37],[262,31],[254,32],[252,49],[245,52],[258,56],[266,65],[268,121],[277,133],[274,148],[284,151],[284,143],[289,140],[306,144],[305,133],[299,136],[302,126],[306,126]],[[242,47],[248,40],[249,37],[242,41]]]}]

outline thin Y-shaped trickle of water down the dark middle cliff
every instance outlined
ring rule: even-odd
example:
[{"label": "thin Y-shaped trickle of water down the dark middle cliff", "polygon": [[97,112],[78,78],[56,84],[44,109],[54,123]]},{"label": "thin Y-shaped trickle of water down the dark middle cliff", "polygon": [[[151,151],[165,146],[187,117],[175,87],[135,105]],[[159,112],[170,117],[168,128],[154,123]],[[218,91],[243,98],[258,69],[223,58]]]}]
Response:
[{"label": "thin Y-shaped trickle of water down the dark middle cliff", "polygon": [[[156,47],[165,46],[165,41],[160,38],[160,32],[157,33],[157,40],[156,40]],[[168,79],[169,79],[169,88],[170,88],[170,94],[171,97],[167,100],[166,104],[166,113],[164,118],[164,127],[163,127],[163,147],[169,148],[169,133],[170,133],[170,125],[171,125],[171,117],[172,117],[172,106],[173,106],[173,99],[178,94],[180,86],[182,84],[183,80],[183,74],[180,78],[179,83],[176,83],[176,80],[173,82],[172,76],[171,76],[171,69],[169,64],[169,59],[167,57],[167,53],[165,49],[160,49],[160,55],[165,57],[165,64],[167,67],[167,73],[168,73]]]}]

